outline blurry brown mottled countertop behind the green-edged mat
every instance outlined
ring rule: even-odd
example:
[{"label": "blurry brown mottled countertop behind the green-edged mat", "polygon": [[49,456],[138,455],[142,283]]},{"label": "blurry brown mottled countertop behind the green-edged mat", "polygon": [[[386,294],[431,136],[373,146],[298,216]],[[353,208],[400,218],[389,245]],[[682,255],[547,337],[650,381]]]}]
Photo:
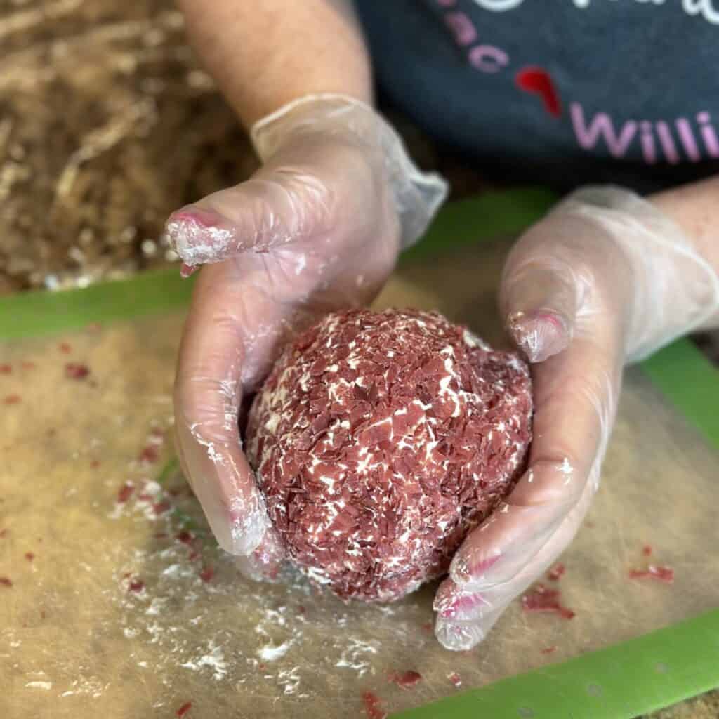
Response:
[{"label": "blurry brown mottled countertop behind the green-edged mat", "polygon": [[[0,296],[175,262],[168,214],[257,166],[171,0],[0,0],[0,46]],[[498,188],[383,110],[453,198]]]}]

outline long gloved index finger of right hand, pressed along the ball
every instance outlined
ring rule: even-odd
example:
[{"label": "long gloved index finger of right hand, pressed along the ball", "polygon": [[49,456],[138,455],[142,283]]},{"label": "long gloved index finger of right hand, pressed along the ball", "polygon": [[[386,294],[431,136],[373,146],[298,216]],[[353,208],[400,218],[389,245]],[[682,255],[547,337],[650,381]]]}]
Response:
[{"label": "long gloved index finger of right hand, pressed along the ball", "polygon": [[582,496],[595,490],[620,383],[618,344],[575,338],[536,365],[529,465],[505,503],[455,554],[450,576],[467,590],[507,582],[533,561]]}]

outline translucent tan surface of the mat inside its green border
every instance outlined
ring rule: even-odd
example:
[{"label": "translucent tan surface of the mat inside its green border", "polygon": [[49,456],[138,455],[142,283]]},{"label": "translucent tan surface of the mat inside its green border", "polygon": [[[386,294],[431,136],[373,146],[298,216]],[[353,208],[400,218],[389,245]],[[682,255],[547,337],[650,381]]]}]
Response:
[{"label": "translucent tan surface of the mat inside its green border", "polygon": [[[404,267],[377,305],[436,308],[501,344],[503,247]],[[0,582],[2,717],[173,717],[187,702],[195,719],[363,716],[367,690],[400,710],[458,691],[450,674],[475,687],[719,604],[717,454],[640,370],[627,373],[603,486],[562,559],[574,619],[516,602],[485,644],[455,654],[430,631],[434,587],[380,607],[243,580],[178,472],[156,482],[173,454],[182,321],[0,344],[11,365],[0,373],[0,577],[12,582]],[[66,376],[68,362],[89,375]],[[628,578],[649,561],[673,567],[674,585]],[[416,687],[388,681],[407,669],[421,673]]]}]

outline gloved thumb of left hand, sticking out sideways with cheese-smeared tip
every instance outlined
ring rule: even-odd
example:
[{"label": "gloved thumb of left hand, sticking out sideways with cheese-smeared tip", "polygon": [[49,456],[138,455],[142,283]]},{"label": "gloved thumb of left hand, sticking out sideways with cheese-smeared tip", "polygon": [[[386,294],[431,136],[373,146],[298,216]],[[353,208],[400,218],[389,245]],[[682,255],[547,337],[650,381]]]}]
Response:
[{"label": "gloved thumb of left hand, sticking out sideways with cheese-smeared tip", "polygon": [[301,170],[260,171],[174,212],[165,234],[188,267],[222,262],[316,232],[328,202],[324,186]]}]

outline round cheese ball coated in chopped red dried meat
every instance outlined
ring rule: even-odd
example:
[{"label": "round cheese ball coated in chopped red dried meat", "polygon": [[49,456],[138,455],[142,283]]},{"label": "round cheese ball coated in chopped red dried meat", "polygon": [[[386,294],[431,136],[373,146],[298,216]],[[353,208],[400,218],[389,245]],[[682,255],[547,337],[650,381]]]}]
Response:
[{"label": "round cheese ball coated in chopped red dried meat", "polygon": [[330,314],[285,350],[247,455],[290,560],[344,599],[439,577],[526,464],[527,365],[438,313]]}]

